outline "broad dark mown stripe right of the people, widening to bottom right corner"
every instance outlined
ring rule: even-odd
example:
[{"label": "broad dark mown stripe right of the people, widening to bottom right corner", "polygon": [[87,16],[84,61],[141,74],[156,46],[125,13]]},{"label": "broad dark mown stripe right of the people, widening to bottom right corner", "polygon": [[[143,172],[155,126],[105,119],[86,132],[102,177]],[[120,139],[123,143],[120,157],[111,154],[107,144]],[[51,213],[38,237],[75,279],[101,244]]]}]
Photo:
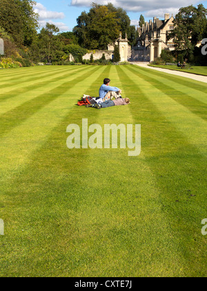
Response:
[{"label": "broad dark mown stripe right of the people, widening to bottom right corner", "polygon": [[[174,275],[204,276],[205,259],[201,254],[205,241],[200,236],[199,224],[206,213],[205,152],[192,145],[173,123],[166,121],[165,114],[148,98],[148,91],[143,89],[139,78],[136,82],[122,67],[118,69],[126,91],[140,93],[139,98],[132,96],[130,110],[136,123],[142,125],[141,149],[159,189],[158,200],[155,199],[168,221],[166,230],[170,231],[170,247],[175,256],[183,258],[184,265]],[[198,127],[197,130],[202,129]],[[195,252],[195,249],[199,251]],[[177,258],[175,260],[177,263]],[[199,262],[197,270],[193,267],[195,261]]]}]

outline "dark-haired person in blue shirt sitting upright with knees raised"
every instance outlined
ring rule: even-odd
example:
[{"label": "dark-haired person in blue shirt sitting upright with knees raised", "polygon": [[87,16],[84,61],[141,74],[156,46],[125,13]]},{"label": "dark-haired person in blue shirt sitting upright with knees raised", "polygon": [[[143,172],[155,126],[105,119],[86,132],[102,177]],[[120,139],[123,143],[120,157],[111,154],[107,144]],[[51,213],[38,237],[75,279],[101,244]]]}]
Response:
[{"label": "dark-haired person in blue shirt sitting upright with knees raised", "polygon": [[103,85],[99,89],[99,97],[103,101],[111,100],[112,98],[121,98],[121,89],[117,87],[110,87],[110,79],[103,80]]}]

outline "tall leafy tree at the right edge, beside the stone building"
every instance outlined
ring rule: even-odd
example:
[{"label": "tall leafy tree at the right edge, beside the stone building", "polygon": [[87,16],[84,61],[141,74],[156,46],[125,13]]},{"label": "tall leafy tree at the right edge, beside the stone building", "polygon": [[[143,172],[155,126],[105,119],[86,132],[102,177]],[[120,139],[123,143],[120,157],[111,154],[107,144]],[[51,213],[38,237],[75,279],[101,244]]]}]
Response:
[{"label": "tall leafy tree at the right edge, beside the stone building", "polygon": [[175,51],[183,52],[187,58],[192,58],[195,46],[206,33],[207,10],[202,4],[181,8],[175,16],[175,28],[168,35],[173,39]]}]

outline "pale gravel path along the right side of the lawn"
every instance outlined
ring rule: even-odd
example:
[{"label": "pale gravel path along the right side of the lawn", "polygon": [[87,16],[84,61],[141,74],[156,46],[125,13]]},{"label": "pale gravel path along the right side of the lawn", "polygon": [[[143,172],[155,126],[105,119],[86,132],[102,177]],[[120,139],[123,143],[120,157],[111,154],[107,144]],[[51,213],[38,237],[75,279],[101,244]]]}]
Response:
[{"label": "pale gravel path along the right side of the lawn", "polygon": [[155,70],[155,71],[161,71],[161,72],[164,72],[164,73],[170,73],[172,75],[181,76],[181,77],[185,77],[185,78],[190,78],[190,79],[193,79],[193,80],[197,80],[197,81],[200,81],[200,82],[207,83],[207,76],[195,75],[194,73],[186,73],[186,72],[180,72],[180,71],[172,71],[172,70],[168,70],[168,69],[149,67],[148,64],[143,64],[143,63],[131,62],[131,64],[136,64],[137,66],[144,67],[144,68],[147,68],[147,69],[152,69],[152,70]]}]

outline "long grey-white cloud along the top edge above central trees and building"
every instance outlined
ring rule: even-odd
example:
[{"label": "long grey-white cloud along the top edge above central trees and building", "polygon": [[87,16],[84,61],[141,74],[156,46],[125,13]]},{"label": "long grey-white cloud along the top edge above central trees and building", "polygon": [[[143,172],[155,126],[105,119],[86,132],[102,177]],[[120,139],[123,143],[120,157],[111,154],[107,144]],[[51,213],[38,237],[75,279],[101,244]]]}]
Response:
[{"label": "long grey-white cloud along the top edge above central trees and building", "polygon": [[[95,1],[95,0],[94,0]],[[92,2],[90,0],[71,0],[72,6],[86,6],[90,7]],[[156,11],[163,10],[164,12],[168,12],[166,10],[176,10],[179,8],[189,6],[190,4],[196,4],[197,0],[168,0],[168,1],[160,1],[160,0],[97,0],[95,3],[105,5],[108,2],[112,3],[115,7],[124,8],[126,11],[133,12],[150,12],[150,16],[154,15]],[[152,11],[154,11],[152,13]]]}]

